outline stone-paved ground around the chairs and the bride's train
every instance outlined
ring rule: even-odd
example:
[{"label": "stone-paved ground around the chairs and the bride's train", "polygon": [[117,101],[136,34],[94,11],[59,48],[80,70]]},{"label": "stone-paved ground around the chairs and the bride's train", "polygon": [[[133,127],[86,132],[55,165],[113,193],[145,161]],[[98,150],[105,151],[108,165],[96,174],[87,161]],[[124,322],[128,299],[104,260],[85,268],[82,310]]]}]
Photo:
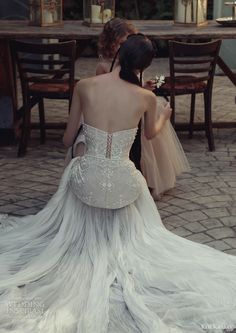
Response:
[{"label": "stone-paved ground around the chairs and the bride's train", "polygon": [[[81,59],[77,75],[92,75],[95,62]],[[146,77],[166,72],[166,60],[156,60]],[[216,76],[213,118],[236,121],[234,99],[235,87],[227,78]],[[202,118],[201,106],[198,99],[198,120]],[[65,121],[67,108],[66,102],[49,101],[47,120]],[[180,97],[177,120],[186,120],[188,112],[188,100]],[[179,177],[176,187],[157,202],[157,207],[172,232],[236,255],[236,129],[215,130],[214,134],[216,151],[210,153],[203,133],[196,133],[192,140],[186,133],[178,133],[192,169]],[[28,154],[20,159],[16,158],[16,147],[0,147],[0,213],[34,214],[44,207],[63,171],[62,135],[63,131],[48,130],[42,146],[38,131],[32,131]]]}]

